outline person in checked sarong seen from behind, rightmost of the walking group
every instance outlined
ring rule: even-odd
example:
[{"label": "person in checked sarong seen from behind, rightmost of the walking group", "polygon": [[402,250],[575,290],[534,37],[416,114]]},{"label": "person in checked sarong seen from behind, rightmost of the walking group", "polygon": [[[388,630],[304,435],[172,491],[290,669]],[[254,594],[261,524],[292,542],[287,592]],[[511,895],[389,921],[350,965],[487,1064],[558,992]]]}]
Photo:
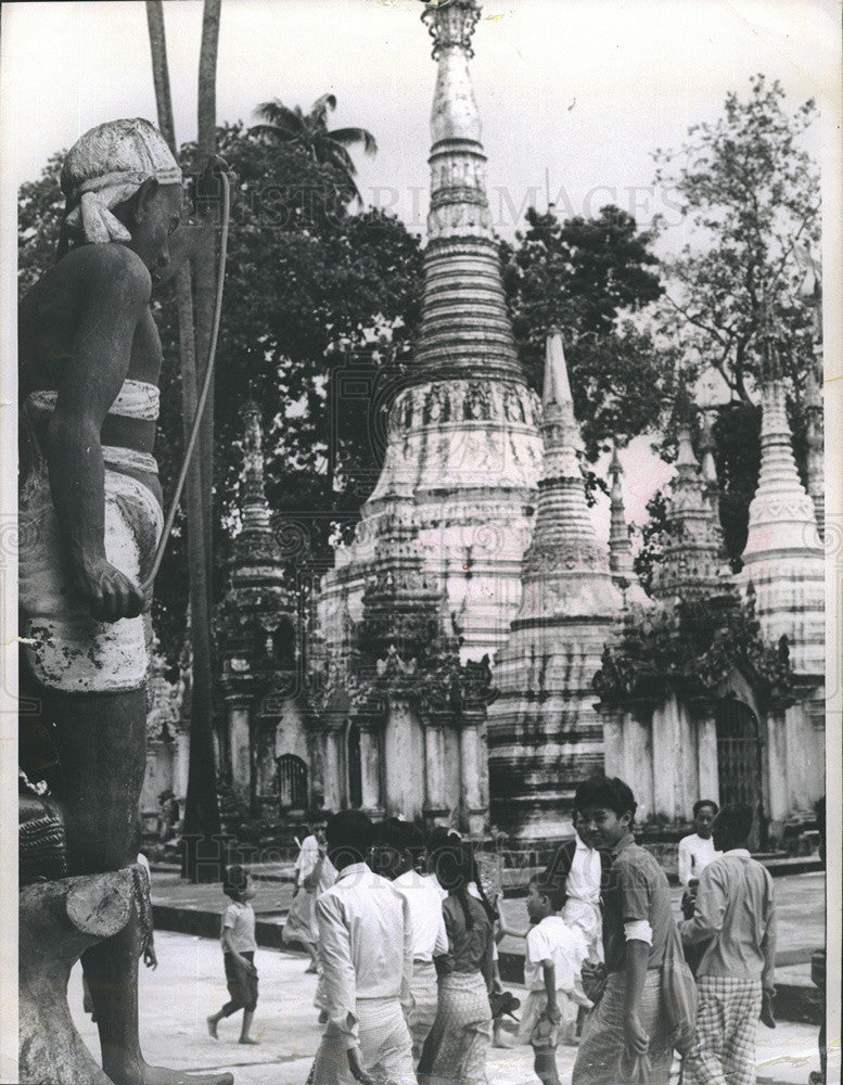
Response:
[{"label": "person in checked sarong seen from behind, rightmost of the walking group", "polygon": [[697,970],[697,1046],[685,1065],[701,1082],[754,1085],[758,1017],[772,1014],[776,901],[769,871],[750,856],[751,806],[724,806],[712,829],[720,858],[700,878],[687,945],[711,940]]}]

